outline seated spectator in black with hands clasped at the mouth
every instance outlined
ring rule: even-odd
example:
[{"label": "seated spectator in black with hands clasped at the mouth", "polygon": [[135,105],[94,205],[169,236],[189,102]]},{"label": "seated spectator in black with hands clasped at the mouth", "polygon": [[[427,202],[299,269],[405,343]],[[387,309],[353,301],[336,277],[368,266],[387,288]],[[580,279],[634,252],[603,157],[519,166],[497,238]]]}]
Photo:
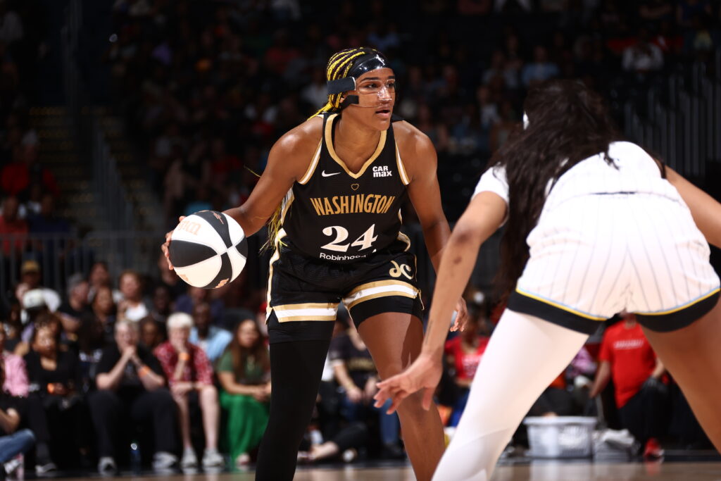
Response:
[{"label": "seated spectator in black with hands clasped at the mouth", "polygon": [[[153,468],[163,471],[177,464],[175,410],[165,387],[160,363],[149,350],[138,346],[138,326],[128,320],[115,323],[115,342],[102,351],[95,378],[97,392],[89,405],[97,434],[98,471],[116,471],[121,427],[150,427],[154,434]],[[125,445],[127,446],[127,445]],[[124,447],[125,447],[124,446]],[[127,449],[127,447],[125,447]]]}]

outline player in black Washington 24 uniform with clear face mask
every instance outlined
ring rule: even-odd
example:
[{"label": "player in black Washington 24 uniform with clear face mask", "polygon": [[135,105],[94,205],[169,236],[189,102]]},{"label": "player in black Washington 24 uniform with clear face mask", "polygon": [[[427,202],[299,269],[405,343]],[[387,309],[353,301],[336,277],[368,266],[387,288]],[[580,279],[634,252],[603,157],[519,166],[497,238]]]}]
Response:
[{"label": "player in black Washington 24 uniform with clear face mask", "polygon": [[[273,395],[258,480],[293,478],[340,302],[381,378],[399,373],[420,353],[416,260],[399,231],[406,196],[436,269],[450,235],[435,149],[417,128],[393,117],[396,81],[386,58],[370,48],[342,50],[330,58],[327,80],[327,104],[275,143],[249,199],[226,211],[247,235],[272,217],[267,327]],[[456,304],[454,328],[466,319],[463,302]],[[424,410],[414,396],[398,413],[417,479],[429,480],[444,449],[438,411]]]}]

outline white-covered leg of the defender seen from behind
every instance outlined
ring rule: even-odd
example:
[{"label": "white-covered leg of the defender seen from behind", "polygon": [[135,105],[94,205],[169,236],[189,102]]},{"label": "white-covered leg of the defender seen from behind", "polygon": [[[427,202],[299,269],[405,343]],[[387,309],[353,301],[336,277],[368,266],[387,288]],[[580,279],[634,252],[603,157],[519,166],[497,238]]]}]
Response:
[{"label": "white-covered leg of the defender seen from behind", "polygon": [[506,309],[433,479],[489,480],[523,416],[587,338],[582,332]]}]

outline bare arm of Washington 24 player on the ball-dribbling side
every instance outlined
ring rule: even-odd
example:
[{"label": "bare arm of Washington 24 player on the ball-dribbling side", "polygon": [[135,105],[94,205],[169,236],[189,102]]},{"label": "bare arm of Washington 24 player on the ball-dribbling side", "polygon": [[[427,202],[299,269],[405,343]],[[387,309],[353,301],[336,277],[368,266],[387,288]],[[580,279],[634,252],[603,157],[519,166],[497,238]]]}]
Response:
[{"label": "bare arm of Washington 24 player on the ball-dribbling side", "polygon": [[[268,162],[250,197],[226,214],[235,219],[246,236],[265,225],[293,182],[303,177],[320,140],[320,119],[311,119],[286,133],[273,145]],[[317,131],[317,132],[316,132]]]}]

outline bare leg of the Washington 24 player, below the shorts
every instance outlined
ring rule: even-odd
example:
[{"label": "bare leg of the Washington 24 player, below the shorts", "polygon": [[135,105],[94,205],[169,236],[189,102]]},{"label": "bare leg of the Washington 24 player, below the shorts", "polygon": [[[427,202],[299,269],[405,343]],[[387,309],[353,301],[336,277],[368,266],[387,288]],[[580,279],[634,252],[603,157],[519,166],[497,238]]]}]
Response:
[{"label": "bare leg of the Washington 24 player, below the shorts", "polygon": [[[412,314],[376,314],[363,320],[358,332],[371,351],[381,379],[403,371],[417,358],[423,343],[423,324]],[[421,399],[420,394],[414,394],[404,400],[398,407],[398,417],[415,476],[430,480],[445,447],[443,425],[435,405],[426,411]]]}]

